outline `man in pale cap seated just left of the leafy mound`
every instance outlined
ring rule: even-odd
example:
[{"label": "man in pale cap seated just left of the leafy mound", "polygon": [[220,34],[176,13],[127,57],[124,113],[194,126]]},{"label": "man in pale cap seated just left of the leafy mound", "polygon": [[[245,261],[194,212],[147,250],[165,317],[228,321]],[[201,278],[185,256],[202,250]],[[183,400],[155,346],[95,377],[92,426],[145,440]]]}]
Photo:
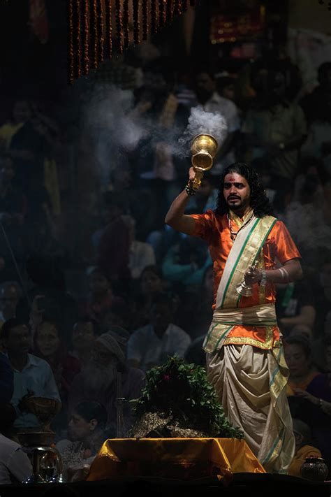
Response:
[{"label": "man in pale cap seated just left of the leafy mound", "polygon": [[138,398],[144,383],[144,373],[126,363],[126,344],[129,333],[120,326],[96,338],[91,360],[78,374],[69,392],[69,412],[74,405],[84,401],[103,404],[108,413],[107,425],[113,435],[117,428],[117,397],[124,401],[124,431],[133,422],[128,401]]}]

